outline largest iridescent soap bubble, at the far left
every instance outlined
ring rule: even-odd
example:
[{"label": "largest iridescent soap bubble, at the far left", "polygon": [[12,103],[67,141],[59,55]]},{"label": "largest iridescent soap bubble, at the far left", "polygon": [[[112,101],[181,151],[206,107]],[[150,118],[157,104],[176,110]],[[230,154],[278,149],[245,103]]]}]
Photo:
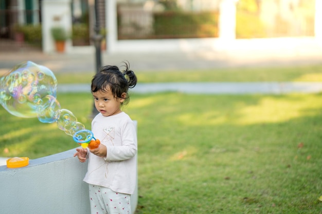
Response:
[{"label": "largest iridescent soap bubble, at the far left", "polygon": [[22,118],[37,117],[39,100],[47,95],[56,98],[56,93],[57,80],[52,71],[30,61],[13,67],[0,80],[0,104]]}]

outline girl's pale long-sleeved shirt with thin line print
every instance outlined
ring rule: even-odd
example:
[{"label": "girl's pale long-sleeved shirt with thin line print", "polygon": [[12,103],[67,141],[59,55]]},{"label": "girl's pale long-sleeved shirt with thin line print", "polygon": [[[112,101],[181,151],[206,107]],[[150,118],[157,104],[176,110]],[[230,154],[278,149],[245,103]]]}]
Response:
[{"label": "girl's pale long-sleeved shirt with thin line print", "polygon": [[97,114],[92,132],[106,146],[106,157],[87,151],[88,167],[84,181],[115,192],[133,194],[136,184],[137,137],[134,122],[125,112],[112,116]]}]

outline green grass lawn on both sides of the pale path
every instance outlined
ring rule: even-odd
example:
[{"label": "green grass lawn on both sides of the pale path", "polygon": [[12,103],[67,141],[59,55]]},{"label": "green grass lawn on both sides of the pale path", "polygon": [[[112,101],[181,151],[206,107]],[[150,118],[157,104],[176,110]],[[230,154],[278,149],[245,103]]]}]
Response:
[{"label": "green grass lawn on both sides of the pale path", "polygon": [[[281,68],[274,75],[255,70],[221,71],[216,80],[321,78],[319,66]],[[139,72],[138,79],[206,81],[180,79],[189,72],[156,74]],[[90,93],[58,93],[57,100],[91,128]],[[138,122],[137,213],[322,213],[321,109],[322,93],[132,94],[124,111]],[[35,159],[78,146],[55,123],[17,118],[4,108],[0,116],[2,157]]]}]

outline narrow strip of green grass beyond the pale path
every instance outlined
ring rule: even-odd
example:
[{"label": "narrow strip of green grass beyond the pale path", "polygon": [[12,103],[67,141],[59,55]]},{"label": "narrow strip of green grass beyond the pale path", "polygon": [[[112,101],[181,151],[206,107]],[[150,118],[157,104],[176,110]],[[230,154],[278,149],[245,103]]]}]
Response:
[{"label": "narrow strip of green grass beyond the pale path", "polygon": [[[133,68],[134,69],[134,68]],[[322,82],[322,64],[272,68],[136,71],[139,83],[158,82]],[[94,73],[57,73],[59,84],[88,83]]]}]

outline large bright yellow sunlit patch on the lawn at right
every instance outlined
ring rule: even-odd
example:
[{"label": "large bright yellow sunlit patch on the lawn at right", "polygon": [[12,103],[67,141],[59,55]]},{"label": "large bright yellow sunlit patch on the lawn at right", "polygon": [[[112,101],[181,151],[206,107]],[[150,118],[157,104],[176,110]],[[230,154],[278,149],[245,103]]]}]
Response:
[{"label": "large bright yellow sunlit patch on the lawn at right", "polygon": [[280,96],[263,96],[256,103],[238,102],[234,111],[218,111],[216,105],[212,109],[201,112],[178,112],[175,116],[183,125],[219,125],[224,123],[251,125],[261,123],[286,122],[303,116],[316,114],[322,108],[321,102],[315,102],[312,96],[302,94]]}]

